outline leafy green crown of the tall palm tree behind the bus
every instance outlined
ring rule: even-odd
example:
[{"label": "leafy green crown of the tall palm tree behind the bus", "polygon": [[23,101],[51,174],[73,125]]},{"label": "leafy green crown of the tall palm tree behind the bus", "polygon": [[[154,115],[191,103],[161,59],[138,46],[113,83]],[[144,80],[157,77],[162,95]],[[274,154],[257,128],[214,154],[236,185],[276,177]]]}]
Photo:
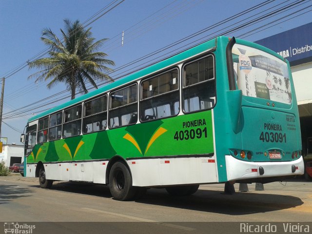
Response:
[{"label": "leafy green crown of the tall palm tree behind the bus", "polygon": [[92,38],[91,28],[84,29],[79,20],[71,22],[64,20],[65,30],[60,29],[62,39],[59,39],[49,28],[42,32],[41,40],[49,46],[49,58],[41,58],[29,62],[29,68],[42,69],[28,78],[37,81],[50,80],[47,87],[50,89],[58,83],[65,83],[71,92],[71,99],[76,96],[76,89],[81,93],[88,93],[86,83],[98,88],[95,80],[113,81],[107,75],[112,71],[106,65],[115,65],[112,60],[105,59],[107,54],[98,52],[103,42],[96,42]]}]

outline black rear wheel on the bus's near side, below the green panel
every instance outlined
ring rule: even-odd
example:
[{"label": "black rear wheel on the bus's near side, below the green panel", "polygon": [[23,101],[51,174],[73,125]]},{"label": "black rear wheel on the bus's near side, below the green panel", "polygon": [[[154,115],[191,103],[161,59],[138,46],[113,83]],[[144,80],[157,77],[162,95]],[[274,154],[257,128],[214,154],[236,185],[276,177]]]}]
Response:
[{"label": "black rear wheel on the bus's near side, below the green panel", "polygon": [[136,187],[132,186],[132,178],[127,166],[116,162],[109,173],[109,189],[112,196],[119,201],[130,200],[136,194]]}]

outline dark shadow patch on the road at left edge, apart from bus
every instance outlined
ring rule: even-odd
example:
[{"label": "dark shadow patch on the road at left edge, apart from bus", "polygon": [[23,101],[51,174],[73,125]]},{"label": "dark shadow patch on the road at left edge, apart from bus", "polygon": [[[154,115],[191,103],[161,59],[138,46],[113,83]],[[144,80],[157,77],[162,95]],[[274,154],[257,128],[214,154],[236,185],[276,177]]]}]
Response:
[{"label": "dark shadow patch on the road at left edge, apart from bus", "polygon": [[18,185],[3,185],[0,184],[0,204],[6,204],[20,197],[27,197],[26,195],[34,191],[29,188],[21,188]]}]

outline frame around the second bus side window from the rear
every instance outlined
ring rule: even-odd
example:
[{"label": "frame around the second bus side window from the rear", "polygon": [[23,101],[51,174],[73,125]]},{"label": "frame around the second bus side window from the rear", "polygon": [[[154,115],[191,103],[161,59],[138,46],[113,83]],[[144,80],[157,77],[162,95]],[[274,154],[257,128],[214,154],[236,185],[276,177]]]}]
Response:
[{"label": "frame around the second bus side window from the rear", "polygon": [[[156,95],[156,96],[153,96],[153,97],[149,97],[149,98],[142,98],[142,94],[143,94],[143,89],[142,89],[142,87],[143,87],[143,82],[145,82],[145,81],[147,81],[147,80],[149,80],[149,79],[152,79],[152,78],[156,78],[156,77],[158,77],[158,76],[161,76],[161,75],[163,75],[163,74],[166,74],[166,73],[168,73],[168,72],[170,72],[170,71],[174,71],[174,70],[176,70],[177,71],[177,74],[178,74],[178,78],[177,78],[177,82],[178,82],[178,85],[177,85],[177,89],[176,90],[171,90],[171,91],[169,91],[169,92],[166,92],[166,93],[162,93],[162,94],[158,94],[158,95]],[[155,121],[155,120],[159,120],[159,119],[164,119],[164,118],[171,118],[171,117],[176,117],[176,116],[178,116],[179,114],[180,114],[180,104],[181,104],[181,96],[180,96],[180,85],[181,85],[181,73],[180,73],[181,71],[180,71],[180,69],[179,69],[179,67],[178,66],[173,66],[173,67],[170,67],[170,68],[168,68],[168,69],[165,69],[165,70],[162,70],[162,71],[160,71],[160,72],[157,72],[157,73],[155,73],[155,74],[152,74],[152,75],[150,75],[150,76],[148,76],[147,78],[143,78],[143,79],[141,79],[140,80],[140,82],[139,82],[139,87],[140,87],[140,90],[139,90],[139,107],[138,107],[138,115],[139,115],[139,121],[140,121],[140,123],[146,123],[146,122],[151,122],[151,121]],[[159,88],[159,86],[158,86],[158,88]],[[158,92],[159,92],[159,90],[158,90]],[[166,116],[166,117],[161,117],[161,118],[155,118],[155,119],[150,119],[150,120],[143,120],[142,118],[141,118],[141,114],[142,114],[142,110],[141,110],[141,103],[142,102],[144,102],[144,101],[146,101],[146,100],[150,100],[150,99],[153,99],[153,98],[158,98],[158,97],[161,97],[161,96],[165,96],[165,95],[168,95],[168,94],[171,94],[171,93],[175,93],[175,92],[177,92],[178,93],[178,102],[179,102],[179,110],[178,110],[178,113],[177,114],[175,114],[175,115],[172,115],[172,116]],[[166,102],[166,103],[162,103],[162,104],[170,104],[170,102]],[[174,104],[174,103],[173,103]],[[164,105],[163,105],[164,106]],[[174,105],[175,106],[175,105]],[[156,106],[156,108],[157,108],[158,106]],[[154,107],[152,107],[152,108],[154,108]]]}]

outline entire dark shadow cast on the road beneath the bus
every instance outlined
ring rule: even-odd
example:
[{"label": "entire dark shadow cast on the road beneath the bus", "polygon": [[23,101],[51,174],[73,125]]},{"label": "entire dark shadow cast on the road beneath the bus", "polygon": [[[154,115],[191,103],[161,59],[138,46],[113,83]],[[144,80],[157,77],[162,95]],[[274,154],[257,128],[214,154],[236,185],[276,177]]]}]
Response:
[{"label": "entire dark shadow cast on the road beneath the bus", "polygon": [[[108,186],[92,183],[59,182],[54,184],[51,189],[67,193],[112,198]],[[148,189],[144,197],[134,202],[227,215],[248,215],[278,211],[303,204],[299,197],[292,195],[239,192],[234,195],[225,195],[222,191],[199,189],[194,195],[170,196],[165,189],[156,188]]]}]

